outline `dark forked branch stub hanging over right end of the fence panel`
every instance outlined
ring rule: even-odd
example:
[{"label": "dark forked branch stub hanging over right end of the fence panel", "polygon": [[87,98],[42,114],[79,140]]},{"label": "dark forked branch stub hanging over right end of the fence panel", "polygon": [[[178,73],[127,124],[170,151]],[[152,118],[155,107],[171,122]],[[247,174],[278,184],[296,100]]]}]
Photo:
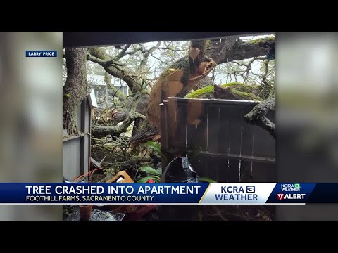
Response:
[{"label": "dark forked branch stub hanging over right end of the fence panel", "polygon": [[244,119],[246,119],[246,122],[256,124],[257,126],[261,126],[261,128],[268,131],[269,134],[273,136],[273,138],[276,138],[275,134],[276,126],[275,124],[273,124],[273,122],[270,122],[270,120],[266,117],[267,113],[270,110],[275,110],[275,108],[276,108],[276,99],[275,93],[273,93],[273,95],[271,95],[270,98],[256,105],[251,110],[251,112],[249,112],[244,116]]}]

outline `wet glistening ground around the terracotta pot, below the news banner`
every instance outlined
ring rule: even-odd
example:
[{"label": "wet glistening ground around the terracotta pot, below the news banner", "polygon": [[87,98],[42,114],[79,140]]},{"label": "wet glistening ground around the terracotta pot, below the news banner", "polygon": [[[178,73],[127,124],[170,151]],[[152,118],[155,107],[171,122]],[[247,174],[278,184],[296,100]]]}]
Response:
[{"label": "wet glistening ground around the terracotta pot, below the news banner", "polygon": [[[92,209],[92,214],[89,221],[122,221],[125,214],[116,214],[111,211],[104,211],[99,209]],[[63,221],[80,221],[80,210],[75,206],[73,210],[63,218]]]}]

